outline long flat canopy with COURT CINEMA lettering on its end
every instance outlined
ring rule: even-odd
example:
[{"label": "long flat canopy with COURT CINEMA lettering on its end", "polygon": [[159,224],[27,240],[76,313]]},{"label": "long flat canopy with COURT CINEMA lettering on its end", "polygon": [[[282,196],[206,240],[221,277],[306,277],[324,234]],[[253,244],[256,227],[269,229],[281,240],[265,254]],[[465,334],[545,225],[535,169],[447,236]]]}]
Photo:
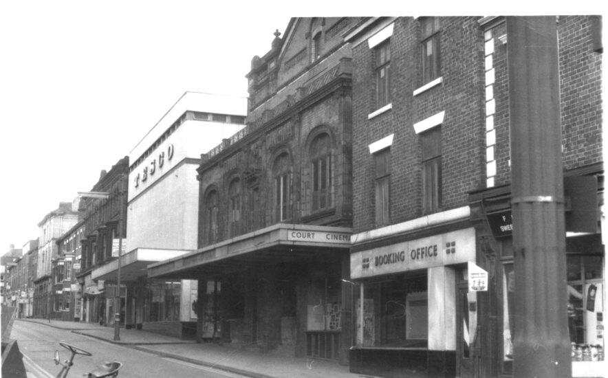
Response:
[{"label": "long flat canopy with COURT CINEMA lettering on its end", "polygon": [[153,263],[149,278],[198,279],[268,264],[294,262],[344,252],[352,229],[279,223],[209,245],[195,252]]}]

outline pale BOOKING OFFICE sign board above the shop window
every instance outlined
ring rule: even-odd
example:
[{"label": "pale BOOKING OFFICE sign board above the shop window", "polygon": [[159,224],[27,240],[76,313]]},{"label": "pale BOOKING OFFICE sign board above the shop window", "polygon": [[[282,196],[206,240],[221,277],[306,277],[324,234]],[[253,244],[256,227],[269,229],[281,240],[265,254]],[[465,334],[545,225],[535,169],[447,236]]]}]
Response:
[{"label": "pale BOOKING OFFICE sign board above the shop window", "polygon": [[447,232],[351,254],[351,278],[475,261],[475,229]]}]

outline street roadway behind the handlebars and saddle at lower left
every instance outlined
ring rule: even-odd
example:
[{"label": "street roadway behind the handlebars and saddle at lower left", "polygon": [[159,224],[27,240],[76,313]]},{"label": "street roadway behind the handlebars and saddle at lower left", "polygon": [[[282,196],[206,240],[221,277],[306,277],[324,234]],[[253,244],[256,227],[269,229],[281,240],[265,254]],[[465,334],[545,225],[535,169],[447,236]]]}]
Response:
[{"label": "street roadway behind the handlebars and saddle at lower left", "polygon": [[[61,367],[55,366],[53,362],[54,351],[60,352],[62,360],[69,356],[67,350],[58,344],[62,341],[92,354],[91,357],[76,355],[68,377],[83,377],[102,362],[113,360],[124,364],[119,377],[243,377],[32,322],[14,322],[11,337],[17,340],[23,355],[32,359],[52,376],[61,370]],[[171,345],[167,345],[166,348],[170,349]]]}]

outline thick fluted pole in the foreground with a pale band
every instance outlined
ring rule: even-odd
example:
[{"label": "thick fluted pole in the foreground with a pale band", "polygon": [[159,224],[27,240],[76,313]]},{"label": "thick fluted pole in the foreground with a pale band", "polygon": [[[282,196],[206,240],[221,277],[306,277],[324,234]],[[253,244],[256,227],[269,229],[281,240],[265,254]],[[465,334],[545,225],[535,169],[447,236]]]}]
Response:
[{"label": "thick fluted pole in the foreground with a pale band", "polygon": [[571,377],[555,16],[508,16],[514,377]]}]

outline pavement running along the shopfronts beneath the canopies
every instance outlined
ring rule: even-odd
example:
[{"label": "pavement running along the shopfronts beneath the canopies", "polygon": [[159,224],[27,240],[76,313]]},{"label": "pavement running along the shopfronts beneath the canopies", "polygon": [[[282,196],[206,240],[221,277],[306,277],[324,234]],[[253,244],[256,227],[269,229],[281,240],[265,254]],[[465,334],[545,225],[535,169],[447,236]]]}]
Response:
[{"label": "pavement running along the shopfronts beneath the canopies", "polygon": [[61,320],[51,320],[49,322],[49,320],[42,319],[21,319],[17,321],[45,324],[105,342],[155,353],[161,357],[178,359],[191,364],[226,370],[230,373],[253,378],[369,378],[369,376],[349,373],[348,366],[342,366],[337,362],[296,358],[280,351],[261,353],[230,344],[197,344],[192,340],[181,340],[177,337],[135,329],[120,329],[120,341],[114,341],[114,329],[109,326]]}]

